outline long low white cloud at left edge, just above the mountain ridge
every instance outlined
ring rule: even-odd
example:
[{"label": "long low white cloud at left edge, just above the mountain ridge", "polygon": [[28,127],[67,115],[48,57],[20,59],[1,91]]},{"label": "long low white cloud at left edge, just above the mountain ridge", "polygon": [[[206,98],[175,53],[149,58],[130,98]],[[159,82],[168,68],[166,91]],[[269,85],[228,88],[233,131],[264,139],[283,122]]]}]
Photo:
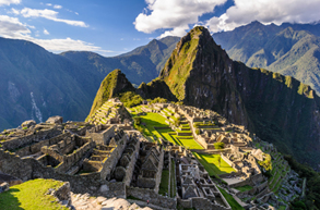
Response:
[{"label": "long low white cloud at left edge, just above the mountain ridge", "polygon": [[[52,52],[62,52],[67,50],[80,50],[80,51],[95,51],[99,53],[112,52],[110,50],[103,50],[100,47],[94,44],[83,40],[75,40],[72,38],[64,39],[38,39],[31,36],[32,32],[27,27],[33,27],[26,24],[22,24],[17,17],[11,17],[8,15],[0,15],[0,36],[12,39],[24,39],[35,42],[45,49]],[[44,34],[46,34],[44,29]],[[35,37],[39,37],[39,32],[36,30]]]}]

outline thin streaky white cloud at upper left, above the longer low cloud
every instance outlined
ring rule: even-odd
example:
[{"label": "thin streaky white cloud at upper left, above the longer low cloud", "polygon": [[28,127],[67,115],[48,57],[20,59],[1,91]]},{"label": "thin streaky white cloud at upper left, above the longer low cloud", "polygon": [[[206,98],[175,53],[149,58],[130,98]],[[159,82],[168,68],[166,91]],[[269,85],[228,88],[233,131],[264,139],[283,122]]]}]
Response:
[{"label": "thin streaky white cloud at upper left, above the longer low cloud", "polygon": [[35,10],[35,9],[29,9],[29,8],[24,8],[23,10],[20,11],[20,14],[22,14],[24,17],[44,17],[47,20],[51,20],[55,22],[61,22],[66,23],[68,25],[73,25],[73,26],[80,26],[80,27],[88,27],[84,22],[82,21],[71,21],[71,20],[63,20],[63,18],[58,18],[58,12],[54,10]]}]

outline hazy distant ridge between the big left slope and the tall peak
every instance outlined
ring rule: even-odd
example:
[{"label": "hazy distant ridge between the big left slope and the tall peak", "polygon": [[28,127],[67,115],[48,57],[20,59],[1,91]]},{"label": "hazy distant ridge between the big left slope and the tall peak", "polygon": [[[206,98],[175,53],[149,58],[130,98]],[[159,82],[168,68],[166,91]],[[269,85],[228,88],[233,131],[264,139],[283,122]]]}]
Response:
[{"label": "hazy distant ridge between the big left slope and the tall peak", "polygon": [[102,79],[112,70],[120,69],[131,83],[139,85],[158,76],[179,39],[178,37],[153,39],[146,46],[112,58],[84,51],[68,51],[61,55],[68,58],[75,65],[102,73]]}]

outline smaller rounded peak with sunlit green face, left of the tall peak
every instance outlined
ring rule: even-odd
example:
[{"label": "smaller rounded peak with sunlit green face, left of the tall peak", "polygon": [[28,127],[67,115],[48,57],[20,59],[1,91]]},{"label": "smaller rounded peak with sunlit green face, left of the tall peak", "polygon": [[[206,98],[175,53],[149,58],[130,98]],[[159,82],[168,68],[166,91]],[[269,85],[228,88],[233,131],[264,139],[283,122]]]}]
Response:
[{"label": "smaller rounded peak with sunlit green face, left of the tall peak", "polygon": [[134,90],[134,87],[128,81],[126,75],[121,73],[120,70],[114,70],[102,82],[88,115],[93,114],[108,99],[116,97],[118,94]]}]

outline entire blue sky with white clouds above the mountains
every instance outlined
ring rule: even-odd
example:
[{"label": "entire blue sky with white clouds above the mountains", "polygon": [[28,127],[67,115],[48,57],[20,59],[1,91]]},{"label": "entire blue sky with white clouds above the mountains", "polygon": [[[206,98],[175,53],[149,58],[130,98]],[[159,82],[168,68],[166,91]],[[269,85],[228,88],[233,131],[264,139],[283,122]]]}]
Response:
[{"label": "entire blue sky with white clouds above the mountains", "polygon": [[194,25],[215,33],[256,20],[310,23],[319,8],[319,0],[0,0],[0,36],[111,57]]}]

